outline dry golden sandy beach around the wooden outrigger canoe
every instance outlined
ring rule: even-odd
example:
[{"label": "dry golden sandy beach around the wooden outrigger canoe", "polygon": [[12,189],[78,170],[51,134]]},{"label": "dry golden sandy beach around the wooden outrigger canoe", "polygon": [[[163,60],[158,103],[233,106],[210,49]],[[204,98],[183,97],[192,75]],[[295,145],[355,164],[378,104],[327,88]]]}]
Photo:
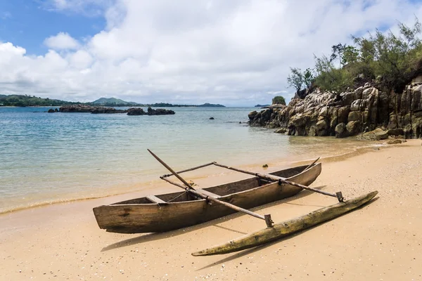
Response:
[{"label": "dry golden sandy beach around the wooden outrigger canoe", "polygon": [[[164,184],[15,211],[0,215],[0,280],[422,280],[421,140],[321,162],[312,187],[341,190],[346,198],[378,190],[378,199],[287,239],[205,257],[191,253],[264,228],[264,223],[234,214],[160,234],[123,235],[98,228],[93,207],[177,190]],[[229,180],[230,175],[224,181]],[[254,210],[281,222],[335,202],[302,191]]]}]

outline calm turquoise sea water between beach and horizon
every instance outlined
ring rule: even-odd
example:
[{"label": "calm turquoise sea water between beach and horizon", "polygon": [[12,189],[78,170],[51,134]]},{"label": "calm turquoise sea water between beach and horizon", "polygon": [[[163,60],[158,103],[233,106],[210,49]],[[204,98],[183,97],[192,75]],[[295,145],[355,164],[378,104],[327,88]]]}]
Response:
[{"label": "calm turquoise sea water between beach and horizon", "polygon": [[139,190],[141,183],[168,173],[147,148],[181,170],[212,161],[291,162],[362,146],[250,127],[253,107],[174,107],[176,115],[163,116],[48,109],[0,107],[0,213]]}]

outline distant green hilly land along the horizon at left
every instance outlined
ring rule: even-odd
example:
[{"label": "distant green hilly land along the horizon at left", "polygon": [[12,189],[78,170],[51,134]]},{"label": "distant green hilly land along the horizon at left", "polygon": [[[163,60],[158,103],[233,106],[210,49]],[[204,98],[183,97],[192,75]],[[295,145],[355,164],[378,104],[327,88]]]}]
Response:
[{"label": "distant green hilly land along the horizon at left", "polygon": [[39,98],[29,95],[0,95],[0,106],[63,106],[63,105],[92,105],[105,107],[224,107],[224,105],[204,103],[203,105],[173,105],[171,103],[134,103],[119,98],[98,98],[91,103],[79,103],[51,98]]}]

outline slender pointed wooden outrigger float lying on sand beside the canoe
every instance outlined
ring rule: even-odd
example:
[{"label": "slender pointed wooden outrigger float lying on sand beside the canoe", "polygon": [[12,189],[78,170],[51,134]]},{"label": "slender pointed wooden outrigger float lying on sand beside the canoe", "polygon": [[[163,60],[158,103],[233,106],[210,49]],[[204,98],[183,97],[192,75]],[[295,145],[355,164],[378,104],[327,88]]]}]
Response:
[{"label": "slender pointed wooden outrigger float lying on sand beside the canoe", "polygon": [[219,246],[212,247],[210,249],[205,249],[202,251],[196,251],[193,253],[193,256],[211,256],[216,254],[229,254],[234,251],[241,251],[244,249],[249,249],[252,247],[257,247],[262,244],[273,242],[282,237],[286,237],[293,233],[297,233],[301,230],[311,228],[316,226],[319,223],[324,221],[329,221],[333,218],[341,216],[349,211],[361,207],[363,204],[366,204],[373,197],[378,194],[378,191],[370,192],[366,195],[356,197],[352,200],[345,200],[345,202],[340,202],[328,207],[312,211],[305,216],[299,218],[293,218],[289,221],[284,221],[283,223],[277,223],[271,228],[265,228],[259,230],[255,233],[239,237],[236,240],[231,240],[230,242],[221,244]]}]

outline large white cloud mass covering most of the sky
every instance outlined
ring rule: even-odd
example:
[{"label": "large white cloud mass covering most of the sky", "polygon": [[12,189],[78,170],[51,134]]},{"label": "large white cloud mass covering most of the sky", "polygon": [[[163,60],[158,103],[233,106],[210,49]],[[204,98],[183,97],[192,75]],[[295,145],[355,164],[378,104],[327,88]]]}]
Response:
[{"label": "large white cloud mass covering most of the sky", "polygon": [[[105,5],[105,3],[107,5]],[[56,10],[107,7],[106,30],[78,42],[61,32],[52,50],[33,57],[0,44],[0,85],[8,92],[95,100],[117,96],[141,103],[269,103],[288,100],[291,67],[314,65],[314,54],[351,44],[351,34],[409,25],[422,18],[410,0],[287,1],[54,0]],[[90,6],[91,5],[91,6]],[[6,59],[7,58],[7,59]]]}]

